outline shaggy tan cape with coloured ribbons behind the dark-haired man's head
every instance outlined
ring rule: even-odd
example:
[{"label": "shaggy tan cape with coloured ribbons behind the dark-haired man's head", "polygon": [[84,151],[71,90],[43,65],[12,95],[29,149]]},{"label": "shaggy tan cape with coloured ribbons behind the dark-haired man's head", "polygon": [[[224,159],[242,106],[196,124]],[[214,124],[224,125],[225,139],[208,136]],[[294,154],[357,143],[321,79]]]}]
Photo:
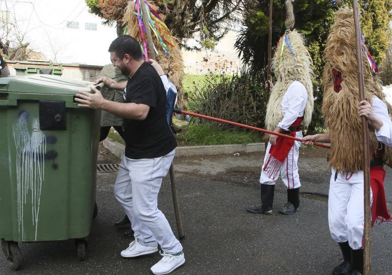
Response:
[{"label": "shaggy tan cape with coloured ribbons behind the dark-haired man's head", "polygon": [[[154,10],[156,11],[158,10],[157,6],[152,4],[150,1],[147,2]],[[126,34],[134,37],[137,41],[139,41],[139,43],[142,43],[143,40],[139,29],[139,22],[134,12],[137,12],[135,1],[130,0],[124,12],[123,25],[126,29]],[[159,16],[163,20],[165,20],[165,16],[163,16],[162,14],[160,14]],[[186,102],[184,101],[183,94],[182,94],[182,78],[184,76],[184,62],[182,60],[181,51],[178,47],[176,39],[172,36],[172,32],[170,32],[167,28],[165,28],[161,24],[155,24],[155,27],[157,28],[159,33],[161,34],[166,33],[167,34],[166,38],[170,38],[168,39],[169,42],[172,45],[174,45],[174,47],[168,45],[170,48],[170,56],[168,56],[162,50],[159,40],[151,31],[154,46],[158,51],[156,52],[156,59],[157,59],[156,61],[162,66],[164,72],[168,75],[169,79],[173,82],[173,84],[177,88],[178,91],[177,106],[182,109],[186,105]],[[145,37],[147,37],[146,33],[145,33]]]}]

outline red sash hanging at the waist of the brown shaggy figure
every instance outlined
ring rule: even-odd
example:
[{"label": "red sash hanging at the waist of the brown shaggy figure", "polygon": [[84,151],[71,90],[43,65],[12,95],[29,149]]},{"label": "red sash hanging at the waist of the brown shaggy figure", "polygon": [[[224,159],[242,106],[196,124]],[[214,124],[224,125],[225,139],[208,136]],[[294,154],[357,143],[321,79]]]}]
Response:
[{"label": "red sash hanging at the waist of the brown shaggy figure", "polygon": [[385,170],[383,166],[370,167],[370,187],[373,192],[373,201],[371,203],[371,226],[375,222],[391,222],[392,217],[387,208],[384,191]]}]

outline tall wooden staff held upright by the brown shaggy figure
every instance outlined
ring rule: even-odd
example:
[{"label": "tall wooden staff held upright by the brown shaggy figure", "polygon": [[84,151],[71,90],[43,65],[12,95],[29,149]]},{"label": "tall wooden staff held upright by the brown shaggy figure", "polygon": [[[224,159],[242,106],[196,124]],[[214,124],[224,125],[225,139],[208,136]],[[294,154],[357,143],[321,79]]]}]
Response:
[{"label": "tall wooden staff held upright by the brown shaggy figure", "polygon": [[[365,80],[364,68],[362,65],[362,40],[361,40],[361,25],[359,23],[358,1],[353,0],[352,6],[354,10],[354,24],[356,36],[356,52],[358,65],[358,86],[359,98],[365,100]],[[370,159],[369,159],[369,137],[368,137],[368,121],[365,116],[362,117],[362,136],[364,140],[364,212],[365,212],[365,227],[364,227],[364,275],[370,275]]]}]

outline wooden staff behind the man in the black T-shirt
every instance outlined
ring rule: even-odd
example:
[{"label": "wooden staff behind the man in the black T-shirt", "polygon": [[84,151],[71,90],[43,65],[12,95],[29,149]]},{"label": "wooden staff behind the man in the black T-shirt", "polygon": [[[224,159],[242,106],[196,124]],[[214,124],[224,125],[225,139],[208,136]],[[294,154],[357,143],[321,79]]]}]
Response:
[{"label": "wooden staff behind the man in the black T-shirt", "polygon": [[[151,36],[151,29],[150,29],[150,26],[148,23],[148,16],[147,16],[145,0],[140,1],[140,6],[142,8],[142,13],[143,13],[143,24],[144,24],[146,32],[147,32],[147,39],[148,39],[148,49],[147,50],[148,50],[149,56],[156,61],[154,44],[152,42],[152,36]],[[185,233],[184,233],[184,228],[182,227],[182,220],[181,220],[181,214],[180,214],[180,204],[178,202],[177,186],[175,183],[173,164],[171,164],[171,166],[170,166],[169,174],[170,174],[170,182],[172,185],[172,197],[173,197],[175,221],[177,224],[178,238],[180,240],[184,240]]]}]

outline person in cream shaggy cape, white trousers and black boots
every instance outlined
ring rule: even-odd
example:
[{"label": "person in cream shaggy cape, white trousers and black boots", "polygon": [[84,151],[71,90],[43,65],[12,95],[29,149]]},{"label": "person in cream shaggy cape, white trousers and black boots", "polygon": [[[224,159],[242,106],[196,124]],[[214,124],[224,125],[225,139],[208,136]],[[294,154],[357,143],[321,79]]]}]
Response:
[{"label": "person in cream shaggy cape, white trousers and black boots", "polygon": [[[312,61],[304,39],[294,27],[293,4],[286,1],[287,19],[284,35],[278,42],[272,59],[276,84],[268,80],[271,96],[267,105],[266,127],[270,131],[302,138],[302,129],[310,124],[313,112]],[[292,214],[299,207],[297,160],[301,143],[270,135],[261,169],[261,203],[248,205],[251,213],[272,214],[275,184],[282,178],[287,187],[287,203],[282,214]]]}]

